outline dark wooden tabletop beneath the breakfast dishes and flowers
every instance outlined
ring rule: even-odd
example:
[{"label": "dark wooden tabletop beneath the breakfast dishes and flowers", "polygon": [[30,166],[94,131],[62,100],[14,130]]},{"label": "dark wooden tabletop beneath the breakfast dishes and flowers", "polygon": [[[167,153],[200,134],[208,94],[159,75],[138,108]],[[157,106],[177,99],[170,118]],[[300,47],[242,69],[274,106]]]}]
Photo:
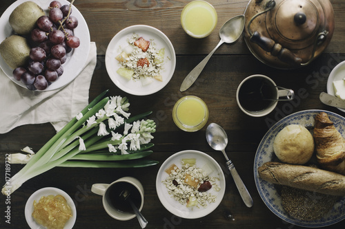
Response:
[{"label": "dark wooden tabletop beneath the breakfast dishes and flowers", "polygon": [[[14,1],[1,0],[0,12],[4,12]],[[47,1],[47,3],[50,1]],[[150,118],[157,120],[157,133],[152,142],[154,153],[150,156],[160,164],[170,155],[186,149],[204,151],[219,163],[225,163],[221,153],[213,151],[205,139],[205,129],[195,133],[179,130],[172,121],[174,103],[186,95],[202,98],[208,105],[208,123],[220,124],[229,136],[226,151],[233,160],[254,200],[254,206],[247,208],[233,182],[226,174],[226,194],[219,207],[210,215],[200,219],[175,217],[162,206],[157,198],[155,178],[157,166],[137,169],[110,168],[53,168],[26,182],[11,195],[11,224],[5,223],[5,197],[0,197],[0,228],[28,228],[24,217],[24,206],[28,197],[39,188],[53,186],[68,193],[77,205],[75,228],[139,228],[137,219],[117,221],[107,215],[101,205],[101,197],[91,193],[92,184],[110,183],[119,177],[137,177],[144,185],[145,201],[143,214],[148,219],[147,228],[299,228],[275,216],[259,197],[253,176],[253,162],[257,146],[272,124],[290,113],[306,109],[325,109],[344,115],[338,109],[323,105],[319,94],[326,91],[326,82],[331,70],[345,60],[345,1],[331,0],[335,11],[335,32],[333,39],[319,58],[311,65],[293,70],[275,69],[264,65],[250,53],[243,37],[233,45],[221,45],[210,58],[197,85],[181,93],[179,86],[184,77],[219,42],[221,25],[237,14],[243,14],[248,1],[210,0],[218,14],[215,31],[205,39],[190,38],[180,25],[180,14],[186,3],[184,0],[76,0],[88,23],[91,41],[97,44],[97,67],[92,76],[90,100],[101,91],[110,89],[110,95],[128,96],[131,113],[152,110]],[[177,65],[170,83],[150,96],[132,96],[117,88],[110,80],[104,61],[106,47],[120,30],[136,24],[151,25],[168,36],[175,47]],[[252,74],[269,76],[277,85],[294,91],[306,90],[307,96],[298,96],[292,102],[280,102],[275,111],[263,118],[246,116],[237,106],[235,93],[237,85]],[[1,108],[1,110],[6,108]],[[5,154],[17,153],[25,146],[37,151],[53,135],[51,124],[36,124],[17,127],[0,135],[0,183],[5,179]],[[12,165],[11,173],[17,173],[21,165]],[[224,217],[230,210],[235,221]],[[344,228],[345,221],[328,228]]]}]

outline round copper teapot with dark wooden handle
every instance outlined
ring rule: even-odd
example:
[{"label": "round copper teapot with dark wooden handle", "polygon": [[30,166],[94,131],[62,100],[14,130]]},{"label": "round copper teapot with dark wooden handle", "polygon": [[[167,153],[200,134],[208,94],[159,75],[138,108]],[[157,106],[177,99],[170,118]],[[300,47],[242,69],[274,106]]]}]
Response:
[{"label": "round copper teapot with dark wooden handle", "polygon": [[250,52],[279,69],[308,65],[333,36],[334,12],[328,0],[251,0],[244,15]]}]

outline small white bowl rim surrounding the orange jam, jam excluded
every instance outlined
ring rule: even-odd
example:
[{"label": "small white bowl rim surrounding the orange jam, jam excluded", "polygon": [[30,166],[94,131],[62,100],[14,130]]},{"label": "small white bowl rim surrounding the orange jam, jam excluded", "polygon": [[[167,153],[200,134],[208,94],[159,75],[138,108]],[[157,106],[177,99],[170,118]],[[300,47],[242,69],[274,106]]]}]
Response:
[{"label": "small white bowl rim surrounding the orange jam, jam excluded", "polygon": [[34,218],[32,218],[32,212],[34,211],[34,200],[39,201],[41,197],[43,196],[48,196],[48,195],[62,195],[65,197],[68,206],[70,206],[70,209],[72,210],[72,217],[68,219],[68,221],[65,224],[65,227],[63,229],[71,229],[75,225],[75,220],[77,219],[77,210],[75,208],[75,203],[73,202],[72,198],[65,193],[63,190],[59,188],[41,188],[34,192],[26,201],[26,206],[25,206],[25,218],[26,222],[32,229],[38,229],[38,228],[43,228],[43,226],[39,225],[34,221]]}]

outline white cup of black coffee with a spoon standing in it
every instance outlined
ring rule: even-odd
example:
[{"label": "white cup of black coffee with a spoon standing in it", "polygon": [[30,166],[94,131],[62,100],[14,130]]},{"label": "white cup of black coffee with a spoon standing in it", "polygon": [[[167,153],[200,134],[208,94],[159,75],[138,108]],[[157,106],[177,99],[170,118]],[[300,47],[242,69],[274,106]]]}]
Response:
[{"label": "white cup of black coffee with a spoon standing in it", "polygon": [[124,204],[124,199],[120,196],[121,192],[127,188],[131,189],[129,197],[141,211],[144,206],[144,188],[134,177],[122,177],[111,184],[93,184],[91,191],[103,196],[103,207],[110,217],[126,221],[136,216],[129,203],[126,203],[128,206],[121,205]]}]

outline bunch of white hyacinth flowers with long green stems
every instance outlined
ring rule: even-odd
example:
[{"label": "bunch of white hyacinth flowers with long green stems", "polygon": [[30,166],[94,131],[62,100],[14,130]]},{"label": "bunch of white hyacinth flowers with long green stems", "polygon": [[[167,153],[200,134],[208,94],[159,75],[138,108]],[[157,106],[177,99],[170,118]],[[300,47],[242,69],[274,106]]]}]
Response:
[{"label": "bunch of white hyacinth flowers with long green stems", "polygon": [[104,91],[72,118],[37,153],[29,147],[11,154],[8,162],[26,164],[6,182],[1,192],[12,194],[24,182],[55,166],[88,168],[137,168],[158,162],[143,159],[152,153],[153,120],[144,119],[151,111],[130,117],[128,99],[106,96]]}]

